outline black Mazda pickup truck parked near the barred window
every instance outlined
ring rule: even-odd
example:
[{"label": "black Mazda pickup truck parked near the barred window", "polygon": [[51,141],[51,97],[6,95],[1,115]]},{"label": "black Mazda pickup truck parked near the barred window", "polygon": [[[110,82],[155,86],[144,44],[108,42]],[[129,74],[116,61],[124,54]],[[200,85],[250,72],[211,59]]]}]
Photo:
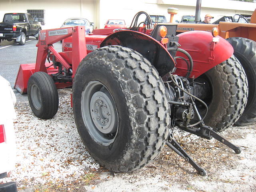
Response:
[{"label": "black Mazda pickup truck parked near the barred window", "polygon": [[34,36],[38,40],[41,29],[40,22],[28,13],[6,13],[0,23],[0,42],[16,40],[20,45],[24,45],[26,36]]}]

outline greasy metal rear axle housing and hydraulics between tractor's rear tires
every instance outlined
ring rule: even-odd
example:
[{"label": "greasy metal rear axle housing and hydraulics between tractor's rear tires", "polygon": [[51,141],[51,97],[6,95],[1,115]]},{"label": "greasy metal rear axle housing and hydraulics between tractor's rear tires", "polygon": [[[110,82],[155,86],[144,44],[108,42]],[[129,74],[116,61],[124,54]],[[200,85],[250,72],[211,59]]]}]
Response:
[{"label": "greasy metal rear axle housing and hydraulics between tractor's rear tires", "polygon": [[183,126],[188,126],[191,121],[197,121],[193,126],[202,122],[204,118],[201,118],[196,103],[204,105],[206,114],[208,109],[203,100],[210,93],[207,82],[200,82],[200,78],[197,81],[189,81],[188,78],[169,74],[168,80],[164,83],[172,120],[182,121]]}]

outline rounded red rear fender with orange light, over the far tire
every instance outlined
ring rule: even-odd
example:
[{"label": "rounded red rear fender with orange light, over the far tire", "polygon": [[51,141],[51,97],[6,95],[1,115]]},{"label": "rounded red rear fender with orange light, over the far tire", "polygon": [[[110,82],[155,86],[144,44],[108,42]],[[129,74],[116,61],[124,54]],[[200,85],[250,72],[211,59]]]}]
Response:
[{"label": "rounded red rear fender with orange light, over the far tire", "polygon": [[[234,52],[233,47],[228,41],[220,36],[218,42],[213,42],[211,32],[189,31],[177,35],[179,37],[179,48],[186,50],[192,57],[194,66],[190,78],[197,78],[204,72],[230,58]],[[177,52],[176,56],[186,56]],[[187,59],[187,58],[186,58]],[[176,60],[175,74],[185,76],[188,66],[182,59]]]}]

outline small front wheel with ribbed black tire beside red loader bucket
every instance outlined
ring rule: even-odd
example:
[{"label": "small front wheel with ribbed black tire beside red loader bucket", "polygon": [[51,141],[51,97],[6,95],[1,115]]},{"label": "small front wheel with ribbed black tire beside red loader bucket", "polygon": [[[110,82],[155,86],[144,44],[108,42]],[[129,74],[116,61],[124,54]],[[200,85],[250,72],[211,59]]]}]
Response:
[{"label": "small front wheel with ribbed black tire beside red loader bucket", "polygon": [[28,80],[28,102],[32,112],[41,119],[50,119],[58,111],[58,91],[50,75],[36,72]]}]

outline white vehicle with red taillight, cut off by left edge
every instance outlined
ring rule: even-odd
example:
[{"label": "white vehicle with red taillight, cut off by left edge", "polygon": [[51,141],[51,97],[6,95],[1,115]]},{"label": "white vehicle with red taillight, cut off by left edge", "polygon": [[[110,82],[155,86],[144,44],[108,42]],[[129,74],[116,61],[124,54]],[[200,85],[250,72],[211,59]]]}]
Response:
[{"label": "white vehicle with red taillight, cut off by left edge", "polygon": [[[16,145],[13,120],[16,118],[16,96],[10,83],[0,76],[0,178],[15,168]],[[16,192],[15,182],[0,184],[0,191]]]}]

